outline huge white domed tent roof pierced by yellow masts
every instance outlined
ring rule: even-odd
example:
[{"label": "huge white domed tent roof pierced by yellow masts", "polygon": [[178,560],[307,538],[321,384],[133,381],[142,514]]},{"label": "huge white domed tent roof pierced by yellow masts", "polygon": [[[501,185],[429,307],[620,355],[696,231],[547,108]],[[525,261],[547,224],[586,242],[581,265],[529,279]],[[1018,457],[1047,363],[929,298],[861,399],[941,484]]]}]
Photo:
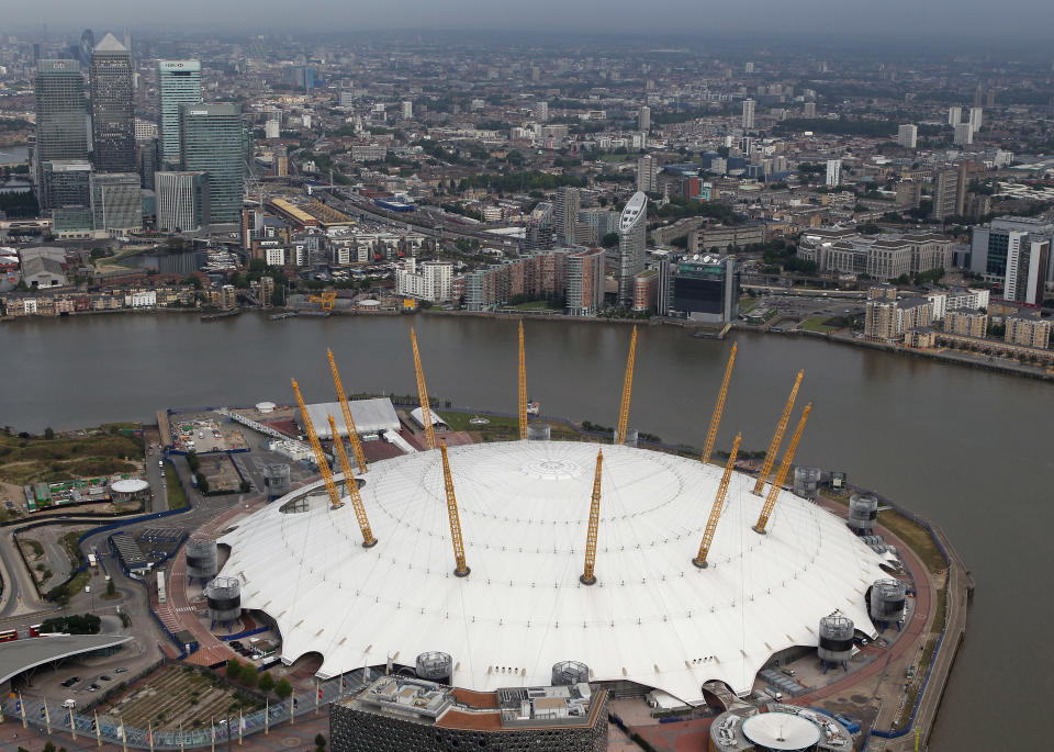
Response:
[{"label": "huge white domed tent roof pierced by yellow masts", "polygon": [[552,664],[571,660],[593,681],[695,703],[708,680],[749,692],[774,652],[815,646],[834,610],[871,624],[864,594],[883,559],[843,520],[782,492],[759,535],[763,500],[736,473],[700,570],[692,559],[721,469],[629,447],[603,447],[597,583],[583,585],[598,448],[450,448],[466,577],[452,573],[438,451],[370,465],[361,495],[375,547],[362,548],[351,505],[330,510],[316,483],[222,538],[221,574],[242,579],[245,608],[276,619],[287,663],[317,652],[328,677],[437,650],[453,656],[452,683],[478,691],[548,685]]}]

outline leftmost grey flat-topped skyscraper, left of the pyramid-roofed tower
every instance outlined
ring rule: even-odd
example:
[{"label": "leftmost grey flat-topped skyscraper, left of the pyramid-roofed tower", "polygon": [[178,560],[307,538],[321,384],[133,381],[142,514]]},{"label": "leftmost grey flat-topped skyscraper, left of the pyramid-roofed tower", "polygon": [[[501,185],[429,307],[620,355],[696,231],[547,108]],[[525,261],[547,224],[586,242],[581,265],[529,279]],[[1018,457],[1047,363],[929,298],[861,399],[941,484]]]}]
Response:
[{"label": "leftmost grey flat-topped skyscraper, left of the pyramid-roofed tower", "polygon": [[41,60],[36,68],[37,199],[51,209],[44,190],[44,162],[52,159],[87,159],[85,80],[77,60]]}]

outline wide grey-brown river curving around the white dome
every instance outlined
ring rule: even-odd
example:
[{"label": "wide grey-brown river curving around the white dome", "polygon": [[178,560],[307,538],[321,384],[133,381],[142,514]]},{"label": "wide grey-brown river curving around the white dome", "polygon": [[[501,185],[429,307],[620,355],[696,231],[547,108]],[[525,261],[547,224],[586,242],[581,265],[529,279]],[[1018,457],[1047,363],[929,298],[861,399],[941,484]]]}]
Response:
[{"label": "wide grey-brown river curving around the white dome", "polygon": [[[333,400],[332,347],[349,392],[429,392],[516,409],[516,327],[467,317],[112,315],[0,326],[0,424],[41,431],[153,422],[169,406]],[[542,413],[617,423],[626,326],[528,322],[528,394]],[[763,450],[794,381],[812,401],[797,460],[845,471],[948,531],[977,592],[931,749],[1042,749],[1054,733],[1049,581],[1054,391],[1045,382],[805,338],[738,334],[719,447]],[[702,446],[731,340],[640,333],[630,426]]]}]

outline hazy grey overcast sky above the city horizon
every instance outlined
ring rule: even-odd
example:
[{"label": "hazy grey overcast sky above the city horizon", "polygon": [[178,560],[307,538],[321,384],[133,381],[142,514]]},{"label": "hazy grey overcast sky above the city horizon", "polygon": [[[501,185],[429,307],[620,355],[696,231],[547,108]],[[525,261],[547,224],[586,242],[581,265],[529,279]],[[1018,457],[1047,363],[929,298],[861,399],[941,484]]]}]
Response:
[{"label": "hazy grey overcast sky above the city horizon", "polygon": [[9,29],[173,32],[516,30],[1050,40],[1054,0],[0,0]]}]

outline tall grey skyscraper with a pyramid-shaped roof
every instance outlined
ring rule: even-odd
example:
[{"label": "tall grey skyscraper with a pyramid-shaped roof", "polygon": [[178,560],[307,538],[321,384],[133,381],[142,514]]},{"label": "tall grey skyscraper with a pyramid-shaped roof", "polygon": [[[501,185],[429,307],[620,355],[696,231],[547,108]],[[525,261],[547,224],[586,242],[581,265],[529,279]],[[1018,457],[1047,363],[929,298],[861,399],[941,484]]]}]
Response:
[{"label": "tall grey skyscraper with a pyramid-shaped roof", "polygon": [[91,52],[91,133],[97,170],[135,170],[132,58],[128,48],[109,33]]}]

